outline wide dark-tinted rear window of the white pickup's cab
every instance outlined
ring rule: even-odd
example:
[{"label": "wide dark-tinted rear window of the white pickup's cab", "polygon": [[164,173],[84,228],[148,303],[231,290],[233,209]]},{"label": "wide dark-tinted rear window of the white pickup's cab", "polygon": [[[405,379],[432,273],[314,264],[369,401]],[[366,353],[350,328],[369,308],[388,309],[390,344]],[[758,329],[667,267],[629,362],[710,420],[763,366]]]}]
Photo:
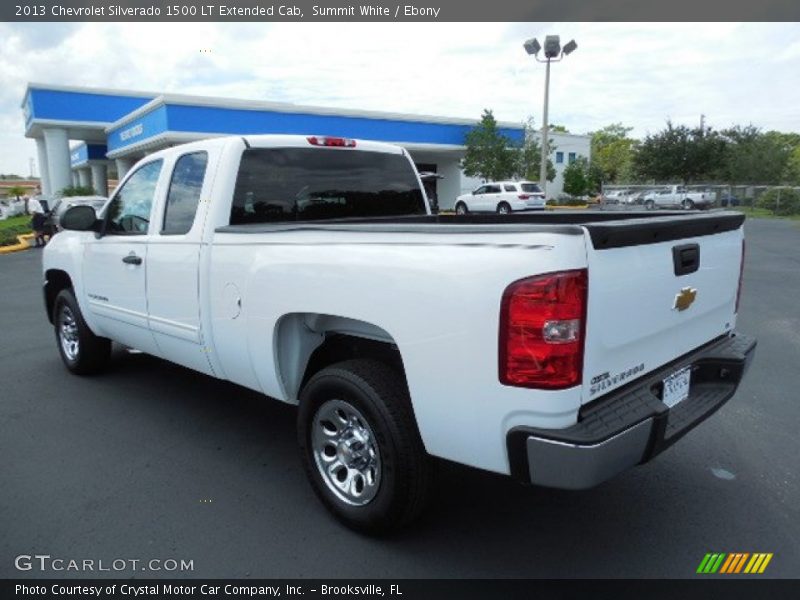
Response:
[{"label": "wide dark-tinted rear window of the white pickup's cab", "polygon": [[401,154],[320,148],[242,153],[231,225],[426,214]]}]

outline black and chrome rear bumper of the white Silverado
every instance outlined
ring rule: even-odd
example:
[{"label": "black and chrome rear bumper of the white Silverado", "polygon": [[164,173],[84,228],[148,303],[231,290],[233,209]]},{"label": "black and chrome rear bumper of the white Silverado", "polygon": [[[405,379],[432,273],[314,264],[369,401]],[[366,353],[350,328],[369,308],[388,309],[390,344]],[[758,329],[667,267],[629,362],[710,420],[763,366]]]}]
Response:
[{"label": "black and chrome rear bumper of the white Silverado", "polygon": [[[585,405],[571,427],[512,429],[506,439],[512,476],[577,490],[649,461],[730,400],[755,347],[753,337],[725,336]],[[687,366],[689,397],[668,408],[661,382]]]}]

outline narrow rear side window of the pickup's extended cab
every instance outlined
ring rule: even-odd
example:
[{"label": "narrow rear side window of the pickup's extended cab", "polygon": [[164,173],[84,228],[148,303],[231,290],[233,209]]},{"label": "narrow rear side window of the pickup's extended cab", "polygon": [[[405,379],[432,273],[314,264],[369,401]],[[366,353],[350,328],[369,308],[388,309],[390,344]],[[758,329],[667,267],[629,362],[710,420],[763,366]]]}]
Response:
[{"label": "narrow rear side window of the pickup's extended cab", "polygon": [[206,152],[184,154],[175,162],[164,207],[162,234],[179,235],[192,228],[207,164]]}]

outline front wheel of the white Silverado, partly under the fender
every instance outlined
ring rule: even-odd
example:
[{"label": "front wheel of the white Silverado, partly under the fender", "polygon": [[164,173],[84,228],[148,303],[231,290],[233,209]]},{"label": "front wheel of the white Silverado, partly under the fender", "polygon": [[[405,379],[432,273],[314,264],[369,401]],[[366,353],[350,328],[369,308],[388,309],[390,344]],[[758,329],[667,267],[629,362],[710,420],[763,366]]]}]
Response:
[{"label": "front wheel of the white Silverado, partly under the fender", "polygon": [[64,365],[76,375],[99,373],[111,357],[111,340],[92,333],[71,289],[61,290],[53,306],[56,345]]}]

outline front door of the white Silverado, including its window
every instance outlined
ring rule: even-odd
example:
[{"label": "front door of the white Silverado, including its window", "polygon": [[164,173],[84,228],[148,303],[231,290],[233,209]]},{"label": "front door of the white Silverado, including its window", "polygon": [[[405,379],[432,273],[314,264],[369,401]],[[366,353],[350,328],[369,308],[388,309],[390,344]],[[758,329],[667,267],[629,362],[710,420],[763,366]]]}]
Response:
[{"label": "front door of the white Silverado, including its window", "polygon": [[145,163],[114,194],[102,237],[86,244],[83,292],[98,333],[148,354],[158,348],[147,323],[147,245],[161,160]]}]

